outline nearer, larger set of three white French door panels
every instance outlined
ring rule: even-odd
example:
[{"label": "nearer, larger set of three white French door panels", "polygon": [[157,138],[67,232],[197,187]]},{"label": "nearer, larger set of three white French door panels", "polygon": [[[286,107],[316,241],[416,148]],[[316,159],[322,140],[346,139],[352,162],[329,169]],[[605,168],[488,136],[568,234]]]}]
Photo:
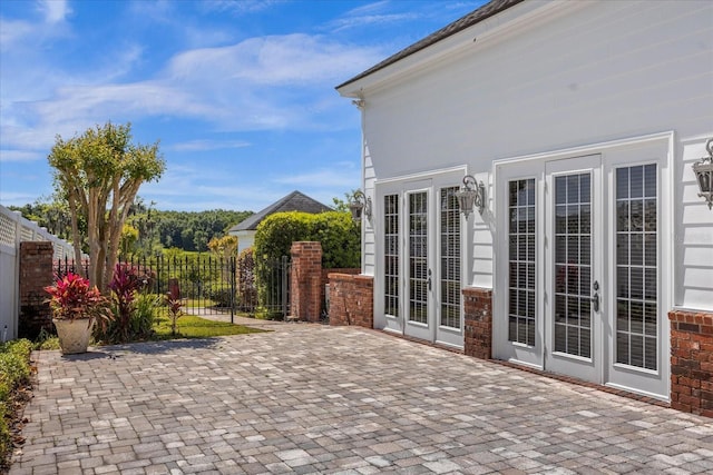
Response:
[{"label": "nearer, larger set of three white French door panels", "polygon": [[668,397],[666,152],[637,144],[498,168],[496,358]]}]

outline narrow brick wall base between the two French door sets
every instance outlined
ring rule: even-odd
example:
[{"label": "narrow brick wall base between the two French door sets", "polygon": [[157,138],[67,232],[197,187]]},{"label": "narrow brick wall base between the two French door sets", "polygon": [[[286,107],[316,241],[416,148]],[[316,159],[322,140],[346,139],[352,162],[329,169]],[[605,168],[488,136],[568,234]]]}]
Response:
[{"label": "narrow brick wall base between the two French door sets", "polygon": [[467,287],[463,293],[463,353],[490,359],[492,355],[492,290]]}]

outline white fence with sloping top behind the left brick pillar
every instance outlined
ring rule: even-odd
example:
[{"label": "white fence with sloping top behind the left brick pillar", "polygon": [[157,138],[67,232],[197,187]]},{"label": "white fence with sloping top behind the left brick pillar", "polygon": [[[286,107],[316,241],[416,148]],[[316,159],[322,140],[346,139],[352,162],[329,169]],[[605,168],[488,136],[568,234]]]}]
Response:
[{"label": "white fence with sloping top behind the left brick pillar", "polygon": [[0,340],[17,337],[20,309],[20,243],[51,241],[55,259],[72,258],[74,247],[0,205]]}]

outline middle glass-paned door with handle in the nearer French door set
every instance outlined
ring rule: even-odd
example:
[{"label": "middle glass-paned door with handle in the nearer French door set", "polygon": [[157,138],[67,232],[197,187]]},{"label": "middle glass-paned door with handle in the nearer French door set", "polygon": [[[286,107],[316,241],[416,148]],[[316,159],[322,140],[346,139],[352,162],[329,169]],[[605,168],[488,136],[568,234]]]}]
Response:
[{"label": "middle glass-paned door with handle in the nearer French door set", "polygon": [[546,369],[602,380],[600,158],[545,165]]}]

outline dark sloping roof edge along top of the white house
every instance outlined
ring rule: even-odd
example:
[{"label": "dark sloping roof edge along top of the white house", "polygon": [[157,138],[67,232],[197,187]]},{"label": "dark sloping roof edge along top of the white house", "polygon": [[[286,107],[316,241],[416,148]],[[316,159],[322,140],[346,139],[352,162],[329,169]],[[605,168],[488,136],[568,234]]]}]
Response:
[{"label": "dark sloping roof edge along top of the white house", "polygon": [[384,59],[383,61],[381,61],[380,63],[378,63],[377,66],[367,69],[364,72],[361,72],[356,76],[354,76],[352,79],[348,80],[346,82],[339,85],[336,87],[336,89],[346,86],[351,82],[358,81],[361,78],[365,78],[367,76],[379,71],[380,69],[385,68],[387,66],[393,65],[397,61],[400,61],[401,59],[413,55],[417,51],[420,51],[424,48],[430,47],[431,44],[434,44],[437,42],[439,42],[442,39],[446,39],[448,37],[450,37],[451,34],[456,34],[457,32],[465,30],[468,27],[472,27],[476,23],[479,23],[480,21],[484,21],[490,17],[492,17],[494,14],[497,14],[504,10],[507,10],[508,8],[520,3],[524,0],[491,0],[490,2],[484,4],[482,7],[480,7],[477,10],[471,11],[470,13],[466,14],[465,17],[453,21],[452,23],[441,28],[440,30],[436,31],[434,33],[429,34],[428,37],[423,38],[420,41],[417,41],[416,43],[411,44],[410,47],[402,49],[401,51],[397,52],[393,56],[390,56],[389,58]]}]

